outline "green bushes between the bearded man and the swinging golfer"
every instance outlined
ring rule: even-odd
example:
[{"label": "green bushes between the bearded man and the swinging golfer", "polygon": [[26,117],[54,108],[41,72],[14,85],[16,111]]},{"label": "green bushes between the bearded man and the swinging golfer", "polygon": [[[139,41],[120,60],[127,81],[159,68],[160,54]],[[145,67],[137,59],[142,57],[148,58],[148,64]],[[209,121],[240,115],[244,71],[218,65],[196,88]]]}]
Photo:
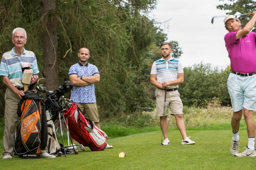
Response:
[{"label": "green bushes between the bearded man and the swinging golfer", "polygon": [[226,70],[212,68],[210,64],[195,64],[184,68],[184,83],[179,92],[184,105],[206,106],[213,98],[222,105],[231,105],[227,90],[230,67]]}]

